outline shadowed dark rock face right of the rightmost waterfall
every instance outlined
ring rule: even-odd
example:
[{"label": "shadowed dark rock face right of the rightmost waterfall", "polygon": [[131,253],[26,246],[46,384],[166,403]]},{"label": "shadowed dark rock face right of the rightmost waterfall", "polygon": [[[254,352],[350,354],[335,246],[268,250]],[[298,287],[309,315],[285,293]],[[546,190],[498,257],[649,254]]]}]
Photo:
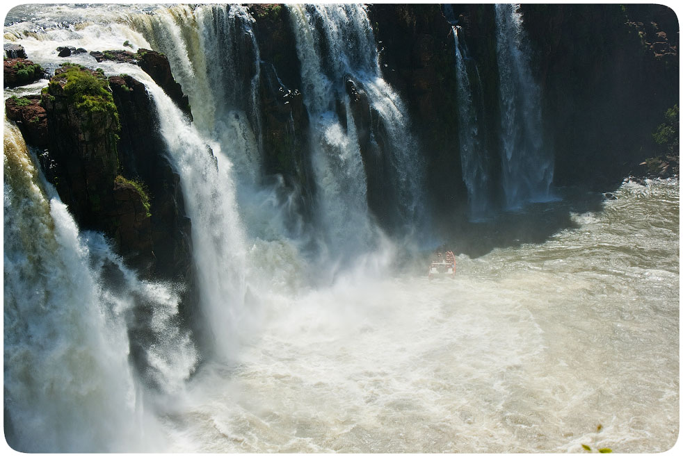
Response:
[{"label": "shadowed dark rock face right of the rightmost waterfall", "polygon": [[678,23],[657,5],[524,5],[555,182],[620,183],[679,99]]}]

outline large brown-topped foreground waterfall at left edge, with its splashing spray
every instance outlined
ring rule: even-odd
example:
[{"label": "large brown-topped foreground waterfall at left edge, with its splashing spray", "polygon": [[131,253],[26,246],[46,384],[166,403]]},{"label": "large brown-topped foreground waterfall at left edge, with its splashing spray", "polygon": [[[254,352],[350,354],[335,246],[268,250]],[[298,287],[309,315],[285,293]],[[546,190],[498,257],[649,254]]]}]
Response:
[{"label": "large brown-topped foreground waterfall at left edge, with its splashing spray", "polygon": [[27,452],[148,451],[147,405],[182,391],[197,360],[177,294],[79,232],[16,126],[4,131],[6,438]]}]

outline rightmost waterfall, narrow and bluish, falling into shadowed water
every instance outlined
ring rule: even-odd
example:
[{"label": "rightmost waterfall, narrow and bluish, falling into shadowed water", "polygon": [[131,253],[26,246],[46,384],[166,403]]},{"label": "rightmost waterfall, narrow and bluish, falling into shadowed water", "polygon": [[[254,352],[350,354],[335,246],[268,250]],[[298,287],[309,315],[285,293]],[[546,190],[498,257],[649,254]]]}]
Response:
[{"label": "rightmost waterfall, narrow and bluish, falling into shadowed water", "polygon": [[502,179],[508,208],[550,197],[552,153],[543,143],[540,88],[533,81],[518,6],[496,5]]}]

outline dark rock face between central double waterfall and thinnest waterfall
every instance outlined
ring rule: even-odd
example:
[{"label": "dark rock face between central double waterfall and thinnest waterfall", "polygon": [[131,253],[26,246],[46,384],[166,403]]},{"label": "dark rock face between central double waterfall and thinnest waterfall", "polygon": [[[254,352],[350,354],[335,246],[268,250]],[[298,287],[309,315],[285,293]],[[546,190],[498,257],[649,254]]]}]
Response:
[{"label": "dark rock face between central double waterfall and thinnest waterfall", "polygon": [[369,17],[385,79],[405,101],[427,164],[437,212],[467,201],[460,178],[451,26],[438,5],[373,4]]}]

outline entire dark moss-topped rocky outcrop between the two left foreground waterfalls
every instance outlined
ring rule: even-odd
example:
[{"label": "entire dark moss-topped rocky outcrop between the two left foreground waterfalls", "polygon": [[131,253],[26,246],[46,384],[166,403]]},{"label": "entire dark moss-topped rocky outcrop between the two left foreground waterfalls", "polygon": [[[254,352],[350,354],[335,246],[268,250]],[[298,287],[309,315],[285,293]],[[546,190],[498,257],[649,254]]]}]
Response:
[{"label": "entire dark moss-topped rocky outcrop between the two left foreground waterfalls", "polygon": [[[155,77],[186,102],[168,85],[170,68]],[[6,114],[45,151],[45,175],[81,228],[102,231],[144,276],[180,281],[191,294],[191,223],[142,83],[65,63],[42,96],[7,99]]]}]

